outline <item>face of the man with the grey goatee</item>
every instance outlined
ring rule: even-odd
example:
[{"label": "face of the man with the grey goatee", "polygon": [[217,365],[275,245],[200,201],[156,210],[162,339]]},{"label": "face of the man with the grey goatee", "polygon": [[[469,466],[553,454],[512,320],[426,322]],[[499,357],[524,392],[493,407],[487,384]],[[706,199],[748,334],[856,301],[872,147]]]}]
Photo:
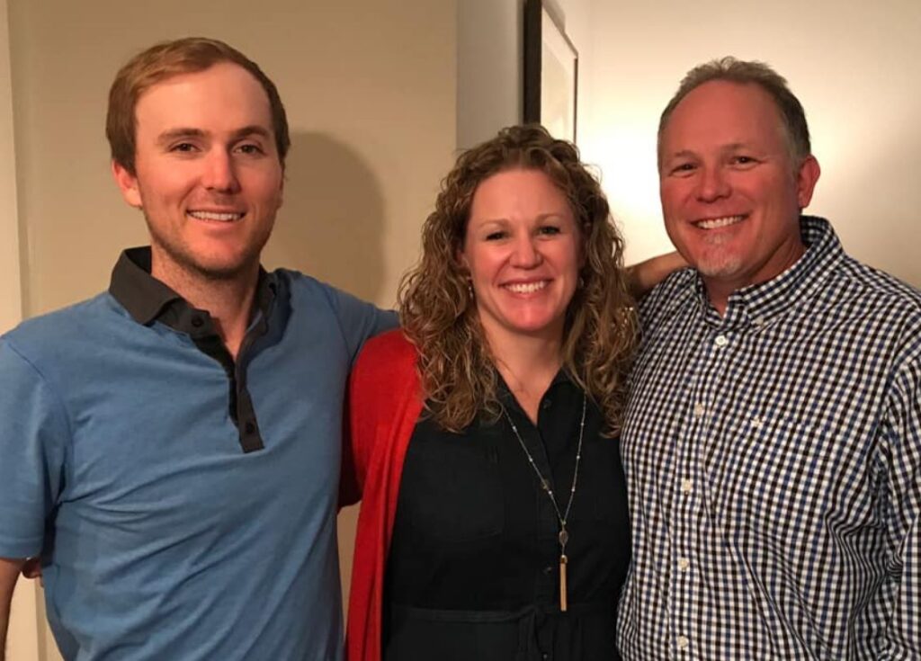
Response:
[{"label": "face of the man with the grey goatee", "polygon": [[661,137],[662,212],[717,308],[799,259],[799,210],[818,178],[813,157],[793,162],[780,112],[761,87],[711,81],[678,104]]}]

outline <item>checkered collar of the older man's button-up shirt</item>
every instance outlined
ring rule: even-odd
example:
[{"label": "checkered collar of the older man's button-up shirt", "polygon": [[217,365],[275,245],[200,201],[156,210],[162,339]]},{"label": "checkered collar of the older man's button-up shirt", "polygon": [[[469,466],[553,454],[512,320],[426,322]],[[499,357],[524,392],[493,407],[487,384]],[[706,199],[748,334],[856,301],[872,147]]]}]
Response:
[{"label": "checkered collar of the older man's button-up shirt", "polygon": [[697,296],[705,310],[705,318],[716,325],[763,326],[797,301],[810,296],[828,279],[845,252],[832,225],[817,216],[799,218],[799,231],[806,252],[787,271],[765,283],[752,284],[729,296],[726,315],[720,318],[710,305],[700,274],[694,278]]}]

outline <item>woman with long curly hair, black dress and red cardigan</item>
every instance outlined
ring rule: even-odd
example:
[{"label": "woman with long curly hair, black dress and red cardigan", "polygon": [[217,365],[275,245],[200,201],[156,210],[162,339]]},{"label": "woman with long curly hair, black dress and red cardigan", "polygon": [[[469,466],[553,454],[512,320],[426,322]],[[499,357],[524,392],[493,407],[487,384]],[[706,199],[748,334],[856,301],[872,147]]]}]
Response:
[{"label": "woman with long curly hair, black dress and red cardigan", "polygon": [[444,180],[402,334],[370,342],[351,385],[350,661],[619,658],[622,250],[577,149],[541,127],[504,130]]}]

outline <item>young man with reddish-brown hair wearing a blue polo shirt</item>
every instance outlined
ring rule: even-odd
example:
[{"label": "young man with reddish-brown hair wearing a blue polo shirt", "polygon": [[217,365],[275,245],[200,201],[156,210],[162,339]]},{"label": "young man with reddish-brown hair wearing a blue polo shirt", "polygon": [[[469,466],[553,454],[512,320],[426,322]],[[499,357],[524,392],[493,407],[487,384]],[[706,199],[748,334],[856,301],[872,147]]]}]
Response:
[{"label": "young man with reddish-brown hair wearing a blue polo shirt", "polygon": [[289,140],[242,53],[140,53],[107,134],[150,246],[0,340],[0,636],[41,555],[66,659],[339,658],[344,383],[395,319],[260,267]]}]

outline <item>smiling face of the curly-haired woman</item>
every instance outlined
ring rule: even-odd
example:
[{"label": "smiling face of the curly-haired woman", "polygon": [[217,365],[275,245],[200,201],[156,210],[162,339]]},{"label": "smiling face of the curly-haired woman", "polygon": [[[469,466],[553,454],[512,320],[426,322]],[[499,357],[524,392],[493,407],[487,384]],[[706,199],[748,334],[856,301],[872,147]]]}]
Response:
[{"label": "smiling face of the curly-haired woman", "polygon": [[564,193],[541,170],[505,170],[480,183],[460,259],[492,344],[523,336],[562,340],[581,246]]}]

